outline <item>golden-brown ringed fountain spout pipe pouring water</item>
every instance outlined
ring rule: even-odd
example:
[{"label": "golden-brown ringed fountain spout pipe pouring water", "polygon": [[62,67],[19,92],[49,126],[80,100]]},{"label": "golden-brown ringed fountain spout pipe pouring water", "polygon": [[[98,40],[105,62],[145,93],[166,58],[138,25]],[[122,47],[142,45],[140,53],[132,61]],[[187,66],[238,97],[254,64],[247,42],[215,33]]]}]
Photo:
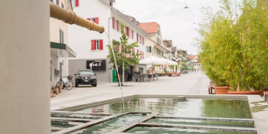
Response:
[{"label": "golden-brown ringed fountain spout pipe pouring water", "polygon": [[89,21],[85,18],[82,18],[76,15],[71,10],[66,10],[52,2],[50,2],[50,17],[56,18],[68,24],[76,24],[80,27],[85,27],[92,31],[97,31],[99,33],[104,32],[104,27],[94,23],[93,21]]}]

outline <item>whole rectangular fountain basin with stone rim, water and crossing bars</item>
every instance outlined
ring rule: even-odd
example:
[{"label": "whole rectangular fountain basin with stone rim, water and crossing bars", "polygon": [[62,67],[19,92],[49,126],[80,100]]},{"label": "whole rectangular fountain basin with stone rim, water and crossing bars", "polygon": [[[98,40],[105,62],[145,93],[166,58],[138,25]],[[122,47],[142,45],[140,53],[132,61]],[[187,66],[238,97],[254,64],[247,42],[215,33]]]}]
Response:
[{"label": "whole rectangular fountain basin with stone rim, water and crossing bars", "polygon": [[[148,111],[159,113],[160,117],[155,114],[144,119],[151,114],[139,114],[135,118],[137,121],[141,119],[141,122],[127,122],[129,124],[126,126],[131,124],[134,126],[131,126],[131,129],[121,128],[122,122],[120,123],[118,120],[109,120],[110,122],[106,124],[102,122],[103,124],[99,124],[95,128],[88,127],[75,133],[156,133],[156,130],[159,130],[159,133],[216,133],[219,131],[225,133],[223,132],[225,130],[227,130],[226,133],[230,133],[230,130],[238,130],[231,131],[232,133],[267,133],[265,115],[267,115],[268,105],[258,95],[184,95],[186,101],[183,102],[177,101],[177,96],[134,95],[124,97],[126,112]],[[121,98],[116,98],[59,110],[119,114],[122,113],[121,103]],[[57,117],[55,114],[53,116]],[[112,127],[115,129],[110,129]],[[222,130],[222,128],[226,129]]]}]

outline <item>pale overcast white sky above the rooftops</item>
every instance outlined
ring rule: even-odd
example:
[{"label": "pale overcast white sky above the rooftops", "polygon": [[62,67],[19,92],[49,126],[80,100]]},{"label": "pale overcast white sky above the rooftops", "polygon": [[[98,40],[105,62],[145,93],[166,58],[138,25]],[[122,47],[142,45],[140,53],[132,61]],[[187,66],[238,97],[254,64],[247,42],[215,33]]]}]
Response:
[{"label": "pale overcast white sky above the rooftops", "polygon": [[[184,9],[184,0],[116,0],[114,7],[124,14],[131,15],[139,22],[157,22],[161,27],[162,38],[172,40],[173,46],[197,54],[193,45],[195,30],[202,19],[201,8],[219,10],[218,0],[185,0],[189,8]],[[235,1],[235,0],[232,0]],[[239,3],[240,0],[237,0]],[[194,18],[193,18],[194,15]],[[196,24],[193,24],[195,21]]]}]

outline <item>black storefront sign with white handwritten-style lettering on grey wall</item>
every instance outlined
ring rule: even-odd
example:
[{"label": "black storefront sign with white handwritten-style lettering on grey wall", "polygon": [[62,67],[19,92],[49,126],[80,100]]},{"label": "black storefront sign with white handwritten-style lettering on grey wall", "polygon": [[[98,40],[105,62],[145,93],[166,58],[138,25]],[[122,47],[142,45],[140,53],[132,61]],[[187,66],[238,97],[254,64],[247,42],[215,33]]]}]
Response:
[{"label": "black storefront sign with white handwritten-style lettering on grey wall", "polygon": [[87,69],[106,70],[106,60],[87,60]]}]

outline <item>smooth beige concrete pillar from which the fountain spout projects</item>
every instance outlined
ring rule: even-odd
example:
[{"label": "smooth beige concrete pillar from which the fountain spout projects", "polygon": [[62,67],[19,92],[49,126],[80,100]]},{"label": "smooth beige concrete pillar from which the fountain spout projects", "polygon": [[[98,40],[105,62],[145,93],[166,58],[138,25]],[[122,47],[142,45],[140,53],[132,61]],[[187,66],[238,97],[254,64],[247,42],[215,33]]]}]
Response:
[{"label": "smooth beige concrete pillar from which the fountain spout projects", "polygon": [[0,4],[0,133],[50,133],[49,0]]}]

